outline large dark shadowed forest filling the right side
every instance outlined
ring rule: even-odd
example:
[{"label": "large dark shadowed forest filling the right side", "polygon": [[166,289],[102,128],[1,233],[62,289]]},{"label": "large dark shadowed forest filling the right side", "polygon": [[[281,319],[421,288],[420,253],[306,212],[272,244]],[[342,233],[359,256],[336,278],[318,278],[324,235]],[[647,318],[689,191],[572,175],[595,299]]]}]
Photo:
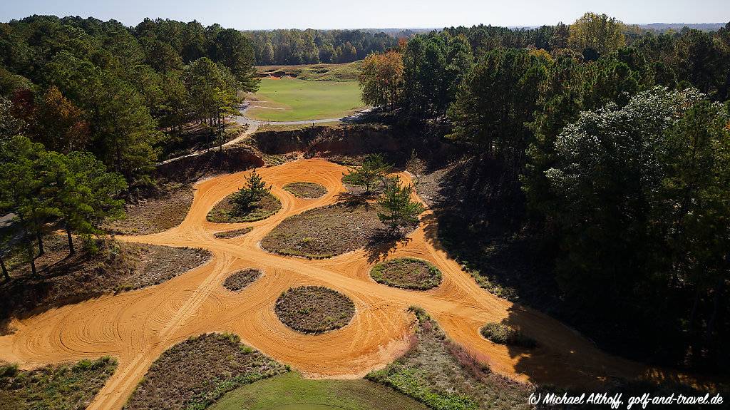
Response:
[{"label": "large dark shadowed forest filling the right side", "polygon": [[369,55],[360,85],[400,123],[445,125],[472,158],[464,190],[495,191],[471,206],[554,248],[545,265],[579,324],[600,322],[596,336],[658,362],[720,371],[729,62],[730,23],[656,34],[586,13],[415,36]]}]

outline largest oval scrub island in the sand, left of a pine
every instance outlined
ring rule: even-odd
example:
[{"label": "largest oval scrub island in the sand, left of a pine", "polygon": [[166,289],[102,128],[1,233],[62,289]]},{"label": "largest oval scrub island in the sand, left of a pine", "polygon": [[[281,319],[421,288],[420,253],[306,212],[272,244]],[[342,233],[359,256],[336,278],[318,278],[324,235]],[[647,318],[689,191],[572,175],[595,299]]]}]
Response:
[{"label": "largest oval scrub island in the sand, left of a pine", "polygon": [[386,229],[380,206],[340,202],[288,217],[264,236],[261,247],[281,255],[331,258],[382,241]]}]

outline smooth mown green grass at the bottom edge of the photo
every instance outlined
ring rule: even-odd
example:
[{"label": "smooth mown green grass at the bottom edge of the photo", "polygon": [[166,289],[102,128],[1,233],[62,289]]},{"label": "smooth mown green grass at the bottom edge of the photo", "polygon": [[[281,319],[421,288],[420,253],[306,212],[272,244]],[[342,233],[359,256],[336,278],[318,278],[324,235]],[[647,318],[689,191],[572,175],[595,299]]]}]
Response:
[{"label": "smooth mown green grass at the bottom edge of the photo", "polygon": [[212,410],[427,410],[412,398],[364,379],[310,380],[291,371],[239,387]]}]

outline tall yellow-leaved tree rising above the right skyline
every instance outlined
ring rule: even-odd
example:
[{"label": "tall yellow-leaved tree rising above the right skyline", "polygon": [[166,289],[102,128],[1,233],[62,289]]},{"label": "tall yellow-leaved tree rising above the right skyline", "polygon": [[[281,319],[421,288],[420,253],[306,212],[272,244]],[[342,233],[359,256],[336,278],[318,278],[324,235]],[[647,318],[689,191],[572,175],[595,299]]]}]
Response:
[{"label": "tall yellow-leaved tree rising above the right skyline", "polygon": [[606,55],[623,47],[623,28],[620,20],[588,12],[570,25],[568,45],[583,53],[592,49],[599,55]]}]

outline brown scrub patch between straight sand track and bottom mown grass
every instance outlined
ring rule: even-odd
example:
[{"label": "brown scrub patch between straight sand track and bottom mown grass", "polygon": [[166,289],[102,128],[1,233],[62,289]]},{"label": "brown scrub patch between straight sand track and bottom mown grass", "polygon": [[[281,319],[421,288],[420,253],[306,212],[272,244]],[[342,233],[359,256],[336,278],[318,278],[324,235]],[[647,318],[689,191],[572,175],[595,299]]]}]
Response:
[{"label": "brown scrub patch between straight sand track and bottom mown grass", "polygon": [[207,333],[167,349],[152,364],[125,410],[204,409],[242,384],[288,371],[237,335]]}]

